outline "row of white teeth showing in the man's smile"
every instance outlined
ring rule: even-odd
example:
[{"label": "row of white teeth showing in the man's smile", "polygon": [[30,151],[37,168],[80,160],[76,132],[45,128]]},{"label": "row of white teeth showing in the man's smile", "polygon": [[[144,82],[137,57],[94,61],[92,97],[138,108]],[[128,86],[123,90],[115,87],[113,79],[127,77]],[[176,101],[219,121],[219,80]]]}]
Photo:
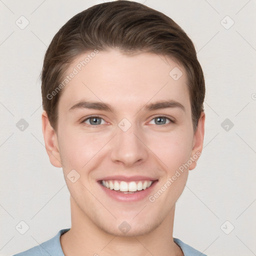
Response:
[{"label": "row of white teeth showing in the man's smile", "polygon": [[135,192],[135,191],[140,191],[142,189],[148,188],[151,184],[151,180],[143,180],[143,181],[131,181],[131,182],[125,182],[125,181],[117,181],[117,180],[102,180],[101,183],[103,186],[109,188],[109,189],[114,189],[114,190],[119,190],[124,193],[129,193],[129,192]]}]

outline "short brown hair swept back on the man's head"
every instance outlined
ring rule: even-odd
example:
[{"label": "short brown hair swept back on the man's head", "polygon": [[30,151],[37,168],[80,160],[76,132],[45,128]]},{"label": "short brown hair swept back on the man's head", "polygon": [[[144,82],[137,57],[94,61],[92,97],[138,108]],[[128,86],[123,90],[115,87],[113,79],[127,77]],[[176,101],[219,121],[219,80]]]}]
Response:
[{"label": "short brown hair swept back on the man's head", "polygon": [[41,71],[42,106],[57,128],[59,85],[69,64],[81,53],[116,48],[124,54],[150,52],[184,67],[194,130],[203,111],[204,77],[194,45],[170,17],[138,2],[118,0],[94,5],[70,18],[54,35]]}]

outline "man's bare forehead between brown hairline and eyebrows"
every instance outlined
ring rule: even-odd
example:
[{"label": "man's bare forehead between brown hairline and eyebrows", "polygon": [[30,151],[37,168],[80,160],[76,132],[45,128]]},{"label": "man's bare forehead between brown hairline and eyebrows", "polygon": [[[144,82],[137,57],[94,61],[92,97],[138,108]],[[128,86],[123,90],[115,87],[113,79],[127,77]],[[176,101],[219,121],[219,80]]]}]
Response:
[{"label": "man's bare forehead between brown hairline and eyebrows", "polygon": [[124,55],[118,50],[91,55],[87,52],[74,59],[66,75],[69,80],[59,99],[66,110],[81,99],[103,101],[123,110],[164,99],[190,107],[184,68],[162,55]]}]

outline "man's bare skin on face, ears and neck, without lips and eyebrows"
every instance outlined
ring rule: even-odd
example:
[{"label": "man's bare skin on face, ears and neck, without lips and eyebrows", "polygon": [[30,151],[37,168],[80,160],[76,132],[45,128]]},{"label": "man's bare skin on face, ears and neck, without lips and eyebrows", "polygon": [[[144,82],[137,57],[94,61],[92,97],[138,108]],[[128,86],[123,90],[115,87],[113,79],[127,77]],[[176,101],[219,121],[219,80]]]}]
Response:
[{"label": "man's bare skin on face, ears and neck, without lips and eyebrows", "polygon": [[[79,55],[66,73],[86,54]],[[178,67],[183,75],[174,80],[169,72]],[[152,53],[127,56],[115,49],[100,51],[62,89],[58,103],[58,124],[54,130],[45,111],[42,130],[50,162],[62,167],[70,191],[71,229],[60,237],[65,255],[183,255],[173,242],[175,202],[182,193],[190,166],[157,198],[117,202],[99,187],[107,175],[146,175],[157,179],[152,193],[175,171],[202,149],[204,113],[193,131],[187,77],[182,66],[170,58]],[[159,100],[183,105],[145,110]],[[80,100],[105,102],[113,111],[75,108]],[[92,125],[89,115],[103,119]],[[156,116],[165,116],[158,124]],[[126,118],[131,127],[123,131],[118,123]],[[80,178],[67,178],[75,169]],[[123,234],[123,221],[130,230]],[[154,242],[152,242],[154,241]]]}]

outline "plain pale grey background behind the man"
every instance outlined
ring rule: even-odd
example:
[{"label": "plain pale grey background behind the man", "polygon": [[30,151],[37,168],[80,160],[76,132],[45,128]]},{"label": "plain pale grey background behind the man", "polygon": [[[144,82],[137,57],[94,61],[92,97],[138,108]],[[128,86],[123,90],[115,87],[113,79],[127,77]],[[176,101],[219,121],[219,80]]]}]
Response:
[{"label": "plain pale grey background behind the man", "polygon": [[[0,255],[70,227],[62,170],[50,164],[44,148],[39,73],[60,26],[101,2],[0,0]],[[256,2],[139,2],[186,31],[207,87],[204,148],[176,204],[173,236],[209,255],[256,255]]]}]

